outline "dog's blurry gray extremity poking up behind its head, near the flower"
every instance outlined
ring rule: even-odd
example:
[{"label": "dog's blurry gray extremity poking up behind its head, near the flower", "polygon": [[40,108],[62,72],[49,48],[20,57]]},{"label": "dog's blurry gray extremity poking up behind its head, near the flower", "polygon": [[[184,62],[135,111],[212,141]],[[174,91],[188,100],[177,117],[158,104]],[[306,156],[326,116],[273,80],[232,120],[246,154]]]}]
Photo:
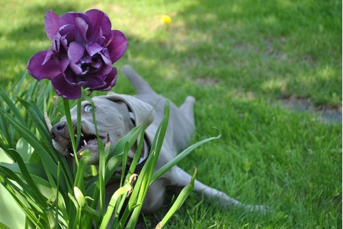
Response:
[{"label": "dog's blurry gray extremity poking up behind its head, near the flower", "polygon": [[134,69],[132,69],[132,67],[129,65],[123,66],[123,73],[131,82],[132,86],[134,86],[134,89],[136,89],[138,94],[151,93],[154,91],[152,90],[151,86],[145,80],[143,80],[141,75],[134,71]]}]

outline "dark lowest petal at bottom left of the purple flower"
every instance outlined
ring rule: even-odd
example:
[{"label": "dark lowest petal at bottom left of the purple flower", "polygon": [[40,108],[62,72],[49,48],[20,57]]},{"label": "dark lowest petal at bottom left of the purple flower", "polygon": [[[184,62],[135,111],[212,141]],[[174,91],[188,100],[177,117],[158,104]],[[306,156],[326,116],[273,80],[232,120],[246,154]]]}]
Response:
[{"label": "dark lowest petal at bottom left of the purple flower", "polygon": [[51,80],[51,84],[56,93],[64,99],[78,99],[81,97],[81,88],[69,84],[62,74],[54,77],[54,79]]}]

